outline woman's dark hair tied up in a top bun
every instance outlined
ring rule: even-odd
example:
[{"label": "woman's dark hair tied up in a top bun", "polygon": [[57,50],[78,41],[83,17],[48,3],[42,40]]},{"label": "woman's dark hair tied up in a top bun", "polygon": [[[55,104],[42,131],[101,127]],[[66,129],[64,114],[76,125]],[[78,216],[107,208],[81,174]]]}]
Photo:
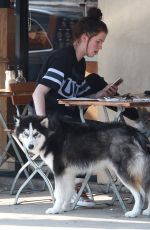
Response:
[{"label": "woman's dark hair tied up in a top bun", "polygon": [[87,12],[87,17],[81,18],[74,26],[73,40],[78,40],[82,34],[87,34],[90,38],[100,32],[108,33],[107,25],[102,21],[102,12],[96,7],[92,7]]}]

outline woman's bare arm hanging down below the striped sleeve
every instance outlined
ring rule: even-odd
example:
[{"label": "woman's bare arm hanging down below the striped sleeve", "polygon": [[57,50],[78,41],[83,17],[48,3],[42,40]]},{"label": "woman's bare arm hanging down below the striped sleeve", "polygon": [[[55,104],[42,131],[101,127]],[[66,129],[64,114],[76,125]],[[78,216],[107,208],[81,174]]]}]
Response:
[{"label": "woman's bare arm hanging down below the striped sleeve", "polygon": [[38,84],[35,91],[33,92],[33,102],[35,106],[35,112],[38,116],[45,116],[46,115],[46,106],[45,106],[45,95],[50,91],[50,88]]}]

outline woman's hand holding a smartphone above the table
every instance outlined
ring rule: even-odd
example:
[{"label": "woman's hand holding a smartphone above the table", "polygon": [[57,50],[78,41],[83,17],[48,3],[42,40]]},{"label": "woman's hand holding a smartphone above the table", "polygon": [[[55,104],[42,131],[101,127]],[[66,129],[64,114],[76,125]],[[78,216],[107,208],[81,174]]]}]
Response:
[{"label": "woman's hand holding a smartphone above the table", "polygon": [[95,98],[112,97],[112,96],[116,95],[117,91],[118,91],[118,86],[108,84],[104,89],[98,91],[95,94]]}]

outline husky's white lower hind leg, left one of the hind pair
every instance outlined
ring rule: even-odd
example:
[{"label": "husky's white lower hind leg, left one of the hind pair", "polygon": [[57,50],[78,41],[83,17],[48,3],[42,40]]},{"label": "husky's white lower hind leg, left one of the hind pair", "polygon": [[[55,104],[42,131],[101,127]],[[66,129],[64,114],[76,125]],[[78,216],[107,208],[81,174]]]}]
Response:
[{"label": "husky's white lower hind leg, left one of the hind pair", "polygon": [[135,201],[133,209],[131,211],[126,212],[125,217],[136,217],[140,215],[141,210],[142,210],[142,205],[143,205],[141,194],[140,194],[140,189],[139,189],[141,188],[140,184],[137,185],[136,183],[133,182],[133,181],[137,181],[136,178],[132,178],[132,181],[129,181],[129,183],[127,183],[127,181],[125,181],[122,177],[120,177],[120,175],[118,175],[118,177],[120,178],[122,183],[132,193],[134,197],[134,201]]}]

